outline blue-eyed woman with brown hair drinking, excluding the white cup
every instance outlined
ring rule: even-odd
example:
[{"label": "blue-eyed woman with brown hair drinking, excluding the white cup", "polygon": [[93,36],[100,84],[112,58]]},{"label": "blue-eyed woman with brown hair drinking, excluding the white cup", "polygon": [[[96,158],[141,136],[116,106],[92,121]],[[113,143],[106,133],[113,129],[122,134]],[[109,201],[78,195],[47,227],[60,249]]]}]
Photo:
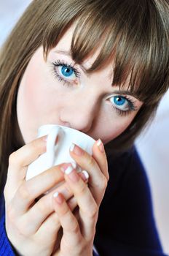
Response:
[{"label": "blue-eyed woman with brown hair drinking, excluding the white cup", "polygon": [[[168,1],[33,1],[0,67],[1,254],[163,255],[133,142],[168,90]],[[97,140],[70,151],[86,176],[63,163],[25,181],[42,124]]]}]

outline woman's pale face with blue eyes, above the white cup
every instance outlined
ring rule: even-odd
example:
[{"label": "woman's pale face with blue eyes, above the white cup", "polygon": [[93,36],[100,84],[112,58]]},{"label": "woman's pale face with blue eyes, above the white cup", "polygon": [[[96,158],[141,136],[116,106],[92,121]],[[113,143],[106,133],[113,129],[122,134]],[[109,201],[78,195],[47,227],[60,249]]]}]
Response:
[{"label": "woman's pale face with blue eyes, above the white cup", "polygon": [[82,66],[68,54],[73,27],[50,50],[47,61],[39,48],[32,56],[17,94],[17,120],[23,140],[34,140],[42,124],[60,124],[78,129],[104,144],[120,135],[131,123],[142,102],[111,86],[112,64],[87,74],[96,58]]}]

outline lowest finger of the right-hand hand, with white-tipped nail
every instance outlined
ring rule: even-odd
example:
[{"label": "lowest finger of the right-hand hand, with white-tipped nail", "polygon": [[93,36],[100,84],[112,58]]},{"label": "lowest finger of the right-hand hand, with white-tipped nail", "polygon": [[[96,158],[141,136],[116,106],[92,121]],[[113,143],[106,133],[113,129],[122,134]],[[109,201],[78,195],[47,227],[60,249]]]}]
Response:
[{"label": "lowest finger of the right-hand hand, with white-tipped nail", "polygon": [[63,243],[65,243],[65,246],[68,246],[68,244],[77,246],[82,239],[82,234],[76,217],[72,214],[62,194],[56,192],[53,195],[53,206],[58,214],[60,225],[63,227]]}]

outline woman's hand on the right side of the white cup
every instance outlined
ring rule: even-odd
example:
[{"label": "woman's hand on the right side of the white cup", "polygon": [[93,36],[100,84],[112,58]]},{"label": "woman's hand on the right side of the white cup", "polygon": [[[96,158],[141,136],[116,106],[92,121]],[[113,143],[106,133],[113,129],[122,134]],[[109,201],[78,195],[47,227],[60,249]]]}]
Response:
[{"label": "woman's hand on the right side of the white cup", "polygon": [[97,146],[95,143],[93,157],[78,146],[70,152],[77,164],[89,173],[88,187],[76,170],[66,170],[65,180],[76,198],[79,211],[73,214],[61,193],[53,197],[53,206],[63,227],[60,249],[53,252],[53,256],[93,255],[98,208],[109,180],[106,154],[100,148],[103,149],[103,144]]}]

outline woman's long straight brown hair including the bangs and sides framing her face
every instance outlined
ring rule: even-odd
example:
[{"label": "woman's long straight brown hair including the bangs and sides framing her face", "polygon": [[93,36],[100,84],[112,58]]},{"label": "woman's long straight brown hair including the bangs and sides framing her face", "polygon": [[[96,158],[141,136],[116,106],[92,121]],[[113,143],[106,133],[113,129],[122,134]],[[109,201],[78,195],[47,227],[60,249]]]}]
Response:
[{"label": "woman's long straight brown hair including the bangs and sides framing her face", "polygon": [[81,64],[101,47],[88,72],[101,69],[114,58],[112,84],[122,87],[130,76],[130,91],[144,101],[125,132],[106,145],[107,154],[133,144],[168,90],[167,0],[32,1],[1,49],[1,183],[7,178],[9,154],[24,144],[17,124],[16,99],[25,67],[41,45],[46,57],[74,21],[72,59]]}]

